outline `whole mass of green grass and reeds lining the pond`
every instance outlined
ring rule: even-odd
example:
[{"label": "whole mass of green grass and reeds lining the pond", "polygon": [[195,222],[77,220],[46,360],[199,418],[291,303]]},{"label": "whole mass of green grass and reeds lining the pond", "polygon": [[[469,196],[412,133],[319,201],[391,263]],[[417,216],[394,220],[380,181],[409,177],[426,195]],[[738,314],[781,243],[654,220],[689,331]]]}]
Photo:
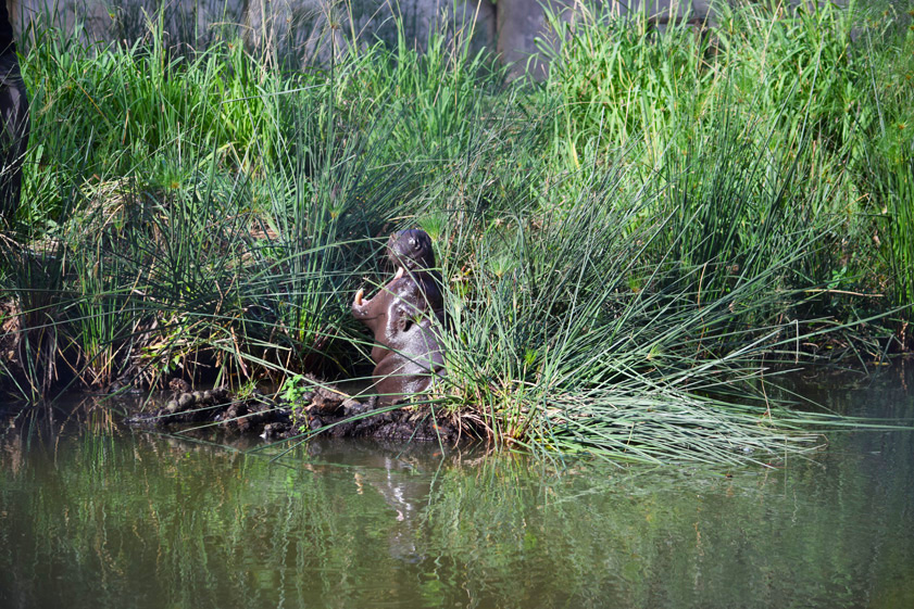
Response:
[{"label": "whole mass of green grass and reeds lining the pond", "polygon": [[5,377],[364,375],[349,303],[417,225],[453,322],[436,407],[533,449],[806,449],[822,419],[762,373],[910,346],[914,31],[868,15],[753,3],[662,35],[556,15],[541,84],[448,31],[277,69],[231,30],[86,47],[48,22],[22,58]]}]

